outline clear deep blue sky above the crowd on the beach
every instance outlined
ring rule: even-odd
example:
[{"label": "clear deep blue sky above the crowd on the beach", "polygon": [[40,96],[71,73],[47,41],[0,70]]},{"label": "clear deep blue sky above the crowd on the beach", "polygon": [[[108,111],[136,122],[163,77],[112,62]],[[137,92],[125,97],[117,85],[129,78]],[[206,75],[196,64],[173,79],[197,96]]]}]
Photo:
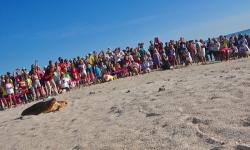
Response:
[{"label": "clear deep blue sky above the crowd on the beach", "polygon": [[249,0],[0,0],[0,73],[107,47],[250,28]]}]

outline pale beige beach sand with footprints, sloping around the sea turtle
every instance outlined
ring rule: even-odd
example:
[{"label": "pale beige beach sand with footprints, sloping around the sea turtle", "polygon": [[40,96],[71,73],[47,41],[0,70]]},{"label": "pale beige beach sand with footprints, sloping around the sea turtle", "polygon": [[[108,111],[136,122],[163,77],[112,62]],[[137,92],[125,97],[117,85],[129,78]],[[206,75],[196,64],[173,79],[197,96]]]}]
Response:
[{"label": "pale beige beach sand with footprints, sloping around the sea turtle", "polygon": [[0,112],[1,150],[250,149],[250,59],[155,71]]}]

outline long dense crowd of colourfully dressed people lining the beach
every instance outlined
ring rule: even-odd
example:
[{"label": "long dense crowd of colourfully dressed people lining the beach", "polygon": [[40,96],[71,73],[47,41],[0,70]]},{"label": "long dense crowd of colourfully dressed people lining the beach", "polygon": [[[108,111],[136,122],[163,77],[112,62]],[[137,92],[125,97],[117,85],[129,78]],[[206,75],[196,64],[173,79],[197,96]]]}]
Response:
[{"label": "long dense crowd of colourfully dressed people lining the beach", "polygon": [[156,37],[148,49],[144,43],[126,49],[116,48],[92,52],[85,57],[49,61],[41,68],[16,69],[0,79],[0,109],[16,107],[31,101],[68,92],[74,88],[112,81],[127,76],[167,70],[179,65],[206,64],[248,57],[248,35],[220,36],[205,40],[170,40],[163,44]]}]

